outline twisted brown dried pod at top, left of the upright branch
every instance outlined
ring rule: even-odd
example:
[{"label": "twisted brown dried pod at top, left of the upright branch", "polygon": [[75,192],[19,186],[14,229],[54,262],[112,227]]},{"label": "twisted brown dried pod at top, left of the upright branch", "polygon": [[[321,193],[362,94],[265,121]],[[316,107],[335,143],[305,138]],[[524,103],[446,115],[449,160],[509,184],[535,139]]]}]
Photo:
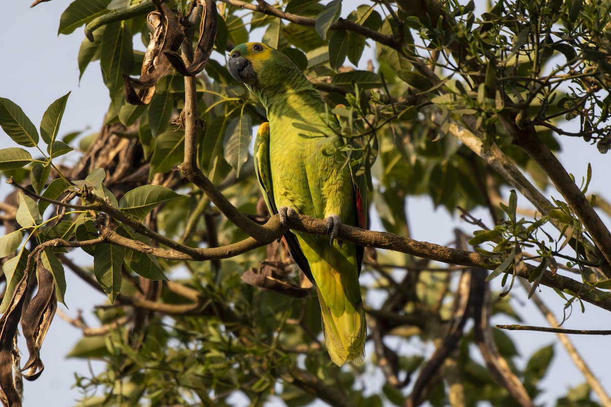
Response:
[{"label": "twisted brown dried pod at top, left of the upright branch", "polygon": [[123,74],[125,100],[131,104],[148,104],[155,95],[155,85],[170,70],[167,52],[180,47],[185,34],[178,24],[176,15],[166,4],[158,4],[157,11],[148,13],[147,23],[153,34],[144,54],[139,79]]}]

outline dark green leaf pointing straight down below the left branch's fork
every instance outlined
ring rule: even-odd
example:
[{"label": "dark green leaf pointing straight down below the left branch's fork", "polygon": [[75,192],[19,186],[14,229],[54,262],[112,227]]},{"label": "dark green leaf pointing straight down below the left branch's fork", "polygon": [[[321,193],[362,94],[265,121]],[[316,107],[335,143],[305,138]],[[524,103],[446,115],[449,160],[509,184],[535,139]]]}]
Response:
[{"label": "dark green leaf pointing straight down below the left branch's fork", "polygon": [[111,303],[121,290],[123,252],[123,247],[100,243],[93,254],[93,273]]}]

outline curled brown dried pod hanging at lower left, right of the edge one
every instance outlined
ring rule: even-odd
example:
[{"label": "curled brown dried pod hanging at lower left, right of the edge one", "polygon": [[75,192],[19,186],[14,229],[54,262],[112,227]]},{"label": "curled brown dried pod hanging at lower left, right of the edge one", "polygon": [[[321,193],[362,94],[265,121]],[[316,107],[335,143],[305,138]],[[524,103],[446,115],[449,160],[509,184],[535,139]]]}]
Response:
[{"label": "curled brown dried pod hanging at lower left, right of the edge one", "polygon": [[40,347],[57,310],[53,275],[43,267],[40,257],[37,259],[36,271],[38,292],[32,298],[26,314],[21,320],[23,336],[26,338],[27,351],[30,355],[21,372],[26,371],[26,373],[23,373],[23,377],[30,381],[36,380],[45,369],[45,365],[40,359]]}]

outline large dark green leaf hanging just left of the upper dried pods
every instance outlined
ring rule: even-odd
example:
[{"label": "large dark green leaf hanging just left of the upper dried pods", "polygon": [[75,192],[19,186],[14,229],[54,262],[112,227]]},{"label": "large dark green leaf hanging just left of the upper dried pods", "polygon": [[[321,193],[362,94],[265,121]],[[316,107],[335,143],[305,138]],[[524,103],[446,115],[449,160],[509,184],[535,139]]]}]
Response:
[{"label": "large dark green leaf hanging just left of the upper dried pods", "polygon": [[100,66],[112,106],[117,110],[123,99],[123,74],[130,74],[134,63],[131,37],[125,22],[108,24],[102,34]]}]

